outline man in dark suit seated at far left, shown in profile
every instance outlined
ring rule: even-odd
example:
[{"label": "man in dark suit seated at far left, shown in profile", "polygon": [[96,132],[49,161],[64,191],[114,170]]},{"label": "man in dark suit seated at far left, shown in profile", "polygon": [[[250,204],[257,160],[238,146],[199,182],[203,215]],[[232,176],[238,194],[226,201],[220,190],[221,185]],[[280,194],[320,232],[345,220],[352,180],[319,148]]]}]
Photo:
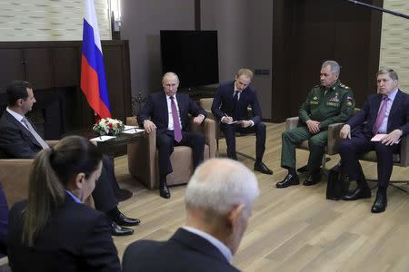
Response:
[{"label": "man in dark suit seated at far left, shown in profile", "polygon": [[[0,151],[10,159],[31,159],[36,153],[49,148],[35,131],[34,125],[25,118],[35,103],[33,88],[25,81],[15,81],[7,86],[8,107],[0,119]],[[103,160],[101,178],[93,192],[95,208],[112,219],[112,233],[115,236],[130,235],[134,229],[122,226],[136,226],[139,219],[125,217],[117,208],[114,189],[117,187],[114,165],[109,158]]]}]

